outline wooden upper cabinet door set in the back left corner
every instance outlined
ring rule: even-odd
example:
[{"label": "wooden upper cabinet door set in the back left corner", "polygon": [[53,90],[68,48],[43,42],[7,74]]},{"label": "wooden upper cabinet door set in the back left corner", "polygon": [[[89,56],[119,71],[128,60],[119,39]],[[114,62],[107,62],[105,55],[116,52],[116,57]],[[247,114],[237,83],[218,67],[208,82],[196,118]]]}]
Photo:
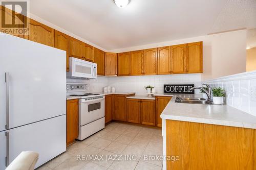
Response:
[{"label": "wooden upper cabinet door set in the back left corner", "polygon": [[105,76],[117,76],[116,53],[105,53]]}]

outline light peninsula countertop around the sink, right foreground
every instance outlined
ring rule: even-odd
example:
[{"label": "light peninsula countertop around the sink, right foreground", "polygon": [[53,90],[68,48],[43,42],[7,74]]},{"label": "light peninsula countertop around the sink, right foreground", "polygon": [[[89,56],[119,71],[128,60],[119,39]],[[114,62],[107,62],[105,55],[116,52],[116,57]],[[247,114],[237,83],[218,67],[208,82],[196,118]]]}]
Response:
[{"label": "light peninsula countertop around the sink, right foreground", "polygon": [[202,97],[202,94],[174,95],[161,114],[163,119],[256,129],[256,116],[228,105],[175,103],[176,96]]}]

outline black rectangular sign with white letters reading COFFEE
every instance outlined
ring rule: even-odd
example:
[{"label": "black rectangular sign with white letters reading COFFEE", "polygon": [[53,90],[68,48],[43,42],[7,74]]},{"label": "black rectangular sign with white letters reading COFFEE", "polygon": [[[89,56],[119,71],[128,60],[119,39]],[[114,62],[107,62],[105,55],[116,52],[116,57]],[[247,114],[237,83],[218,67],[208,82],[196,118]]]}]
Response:
[{"label": "black rectangular sign with white letters reading COFFEE", "polygon": [[165,84],[165,85],[163,85],[163,92],[164,93],[195,94],[195,91],[190,89],[194,86],[195,86],[194,84]]}]

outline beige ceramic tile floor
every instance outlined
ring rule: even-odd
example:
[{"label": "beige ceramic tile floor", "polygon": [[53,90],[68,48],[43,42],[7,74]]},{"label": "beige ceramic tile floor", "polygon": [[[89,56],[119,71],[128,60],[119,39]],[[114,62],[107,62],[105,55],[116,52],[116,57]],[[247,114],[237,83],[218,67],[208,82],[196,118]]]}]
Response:
[{"label": "beige ceramic tile floor", "polygon": [[[37,170],[161,170],[162,161],[144,158],[161,156],[162,142],[160,129],[113,122],[89,138],[70,145],[65,153]],[[81,160],[77,160],[77,155]],[[96,159],[86,160],[88,155],[94,155]],[[134,159],[127,160],[126,155],[133,155]]]}]

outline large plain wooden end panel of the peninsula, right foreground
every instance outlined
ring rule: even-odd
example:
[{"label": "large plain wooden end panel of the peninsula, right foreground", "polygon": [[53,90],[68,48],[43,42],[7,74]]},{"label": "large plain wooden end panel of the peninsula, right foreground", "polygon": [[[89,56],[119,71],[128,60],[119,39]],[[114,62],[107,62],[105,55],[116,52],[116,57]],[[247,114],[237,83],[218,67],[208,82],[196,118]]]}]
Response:
[{"label": "large plain wooden end panel of the peninsula, right foreground", "polygon": [[256,169],[256,130],[166,120],[167,169]]}]

